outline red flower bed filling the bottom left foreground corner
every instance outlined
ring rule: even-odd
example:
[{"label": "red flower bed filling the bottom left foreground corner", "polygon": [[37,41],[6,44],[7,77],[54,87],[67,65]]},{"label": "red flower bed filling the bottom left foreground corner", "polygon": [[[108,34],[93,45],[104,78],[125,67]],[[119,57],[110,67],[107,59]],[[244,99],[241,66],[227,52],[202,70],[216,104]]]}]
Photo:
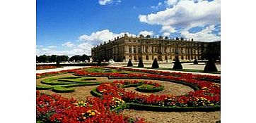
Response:
[{"label": "red flower bed filling the bottom left foreground corner", "polygon": [[133,119],[122,114],[112,112],[113,105],[122,103],[120,98],[106,96],[87,98],[86,101],[63,98],[62,96],[48,96],[37,91],[36,98],[37,121],[49,123],[144,123],[143,119]]}]

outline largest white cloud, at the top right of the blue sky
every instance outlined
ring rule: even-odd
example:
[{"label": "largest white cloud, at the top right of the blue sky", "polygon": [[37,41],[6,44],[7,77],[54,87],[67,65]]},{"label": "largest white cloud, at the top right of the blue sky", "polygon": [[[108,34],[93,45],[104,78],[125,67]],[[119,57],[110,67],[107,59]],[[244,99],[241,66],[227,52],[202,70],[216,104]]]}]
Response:
[{"label": "largest white cloud, at the top right of the blue sky", "polygon": [[182,0],[177,1],[177,3],[176,1],[166,1],[165,3],[173,5],[173,7],[149,15],[139,15],[140,22],[146,22],[150,25],[179,27],[185,30],[220,23],[220,0]]}]

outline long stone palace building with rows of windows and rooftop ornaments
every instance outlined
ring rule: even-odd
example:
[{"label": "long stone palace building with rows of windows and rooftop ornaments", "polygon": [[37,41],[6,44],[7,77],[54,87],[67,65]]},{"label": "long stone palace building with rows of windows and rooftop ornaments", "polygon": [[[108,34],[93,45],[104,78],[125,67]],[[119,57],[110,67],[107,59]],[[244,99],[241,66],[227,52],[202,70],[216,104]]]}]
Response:
[{"label": "long stone palace building with rows of windows and rooftop ornaments", "polygon": [[91,48],[93,60],[114,60],[116,62],[128,61],[129,59],[139,61],[174,60],[175,56],[182,61],[206,60],[206,54],[215,53],[216,60],[220,60],[221,41],[204,42],[194,39],[170,38],[151,36],[144,37],[117,37],[112,41],[104,42],[100,46]]}]

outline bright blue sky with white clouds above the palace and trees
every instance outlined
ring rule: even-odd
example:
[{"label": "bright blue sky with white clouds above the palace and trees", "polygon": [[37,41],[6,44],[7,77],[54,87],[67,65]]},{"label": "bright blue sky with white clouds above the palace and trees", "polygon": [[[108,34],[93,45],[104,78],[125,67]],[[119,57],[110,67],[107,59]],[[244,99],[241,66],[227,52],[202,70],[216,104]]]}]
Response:
[{"label": "bright blue sky with white clouds above the palace and trees", "polygon": [[37,0],[37,56],[91,55],[127,33],[221,40],[220,0]]}]

